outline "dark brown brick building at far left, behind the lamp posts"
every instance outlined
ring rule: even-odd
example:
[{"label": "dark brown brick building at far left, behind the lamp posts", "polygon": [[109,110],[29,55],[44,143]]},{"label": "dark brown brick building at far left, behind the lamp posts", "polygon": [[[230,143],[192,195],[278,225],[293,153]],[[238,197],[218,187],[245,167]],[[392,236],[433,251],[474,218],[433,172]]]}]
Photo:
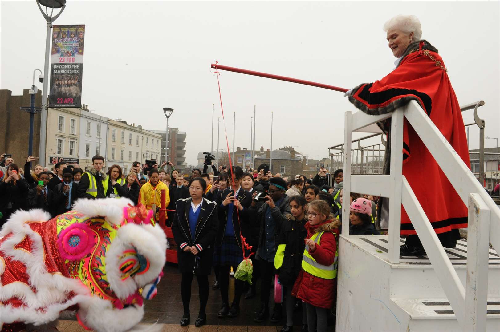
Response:
[{"label": "dark brown brick building at far left, behind the lamp posts", "polygon": [[[10,90],[0,90],[0,154],[11,154],[14,162],[23,167],[28,157],[29,113],[19,109],[29,106],[28,89],[22,95],[13,96]],[[35,95],[35,107],[41,106],[41,91]],[[38,156],[40,146],[40,112],[34,115],[33,155]],[[33,165],[34,166],[34,165]]]}]

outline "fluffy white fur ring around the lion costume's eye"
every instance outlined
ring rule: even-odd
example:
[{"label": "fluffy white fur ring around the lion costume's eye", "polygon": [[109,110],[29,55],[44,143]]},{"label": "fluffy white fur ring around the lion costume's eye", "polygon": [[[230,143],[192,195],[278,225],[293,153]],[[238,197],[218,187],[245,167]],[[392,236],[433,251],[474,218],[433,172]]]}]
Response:
[{"label": "fluffy white fur ring around the lion costume's eye", "polygon": [[[149,261],[149,270],[133,278],[121,280],[118,259],[123,251],[134,247]],[[156,225],[127,224],[122,226],[109,246],[106,254],[106,277],[111,290],[119,299],[126,299],[136,290],[151,283],[163,269],[166,255],[166,237]]]}]

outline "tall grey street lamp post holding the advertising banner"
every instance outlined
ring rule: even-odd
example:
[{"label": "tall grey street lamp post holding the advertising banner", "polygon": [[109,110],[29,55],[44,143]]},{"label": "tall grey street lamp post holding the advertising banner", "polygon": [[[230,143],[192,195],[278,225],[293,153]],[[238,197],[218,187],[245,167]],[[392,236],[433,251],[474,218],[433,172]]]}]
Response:
[{"label": "tall grey street lamp post holding the advertising banner", "polygon": [[[40,164],[42,166],[45,166],[45,143],[46,143],[46,135],[47,135],[47,89],[48,89],[48,60],[50,58],[50,29],[52,28],[52,22],[59,17],[59,15],[62,13],[64,8],[66,7],[66,0],[36,0],[36,4],[38,5],[38,8],[40,9],[41,14],[47,21],[47,36],[45,40],[45,62],[43,66],[43,92],[42,92],[42,99],[41,99],[41,117],[40,117],[40,149],[39,149],[39,155],[40,155]],[[45,7],[45,12],[41,9],[41,6]],[[50,14],[47,11],[47,8],[50,8]],[[54,8],[60,8],[61,10],[59,13],[55,16],[52,16],[52,13],[54,11]]]}]

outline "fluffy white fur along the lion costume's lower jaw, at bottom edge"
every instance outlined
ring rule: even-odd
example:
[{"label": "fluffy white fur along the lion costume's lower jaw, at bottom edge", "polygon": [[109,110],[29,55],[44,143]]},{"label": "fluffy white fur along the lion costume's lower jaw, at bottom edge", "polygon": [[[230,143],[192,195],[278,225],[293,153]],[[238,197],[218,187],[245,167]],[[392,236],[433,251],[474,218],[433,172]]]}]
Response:
[{"label": "fluffy white fur along the lion costume's lower jaw, at bottom edge", "polygon": [[96,331],[127,331],[142,320],[144,307],[136,305],[115,309],[111,302],[92,297],[80,303],[78,316],[85,326]]}]

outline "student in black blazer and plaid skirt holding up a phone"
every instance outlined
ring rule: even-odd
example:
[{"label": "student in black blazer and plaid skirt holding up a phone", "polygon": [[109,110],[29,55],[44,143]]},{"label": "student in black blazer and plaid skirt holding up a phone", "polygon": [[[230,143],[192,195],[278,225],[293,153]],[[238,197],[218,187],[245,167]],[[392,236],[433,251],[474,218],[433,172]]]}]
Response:
[{"label": "student in black blazer and plaid skirt holding up a phone", "polygon": [[[215,239],[213,265],[219,271],[220,296],[222,306],[217,314],[219,318],[236,317],[239,314],[239,300],[243,292],[243,282],[234,279],[234,298],[229,308],[229,272],[236,271],[243,260],[240,234],[250,238],[250,222],[248,220],[248,207],[251,204],[251,194],[241,188],[243,170],[233,166],[227,173],[229,188],[219,191],[215,202],[218,208],[219,228]],[[220,176],[220,175],[219,175]],[[220,180],[220,179],[219,179]],[[249,254],[249,251],[245,254]]]}]

